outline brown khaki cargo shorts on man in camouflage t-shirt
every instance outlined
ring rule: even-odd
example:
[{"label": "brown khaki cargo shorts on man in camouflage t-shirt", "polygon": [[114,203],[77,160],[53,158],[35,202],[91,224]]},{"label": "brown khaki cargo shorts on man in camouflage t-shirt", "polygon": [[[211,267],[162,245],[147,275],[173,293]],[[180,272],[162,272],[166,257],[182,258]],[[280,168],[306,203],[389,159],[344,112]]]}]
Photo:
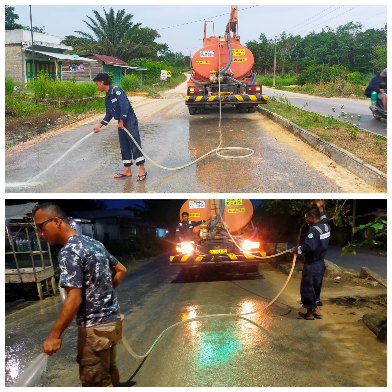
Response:
[{"label": "brown khaki cargo shorts on man in camouflage t-shirt", "polygon": [[82,387],[107,387],[116,368],[116,343],[122,338],[122,321],[78,327],[79,377]]}]

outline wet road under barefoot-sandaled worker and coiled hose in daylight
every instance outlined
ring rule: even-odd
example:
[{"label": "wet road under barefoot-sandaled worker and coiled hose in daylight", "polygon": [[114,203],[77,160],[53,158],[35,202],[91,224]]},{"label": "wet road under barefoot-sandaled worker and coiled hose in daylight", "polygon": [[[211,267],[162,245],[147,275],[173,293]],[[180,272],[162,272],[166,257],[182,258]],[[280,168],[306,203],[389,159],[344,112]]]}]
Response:
[{"label": "wet road under barefoot-sandaled worker and coiled hose in daylight", "polygon": [[[157,163],[178,167],[218,147],[219,110],[190,116],[182,96],[149,99],[134,105],[142,147]],[[100,120],[79,125],[39,142],[14,148],[5,157],[7,193],[184,193],[184,192],[377,192],[347,170],[330,169],[332,161],[260,113],[239,113],[222,107],[222,147],[249,147],[253,156],[222,159],[211,154],[178,171],[146,162],[147,180],[114,179],[122,170],[114,120],[86,137]],[[283,135],[283,136],[282,136]],[[282,137],[281,137],[282,136]],[[80,145],[65,155],[74,144]],[[230,155],[244,155],[238,151]],[[45,172],[44,172],[45,171]],[[42,174],[44,172],[44,174]]]}]

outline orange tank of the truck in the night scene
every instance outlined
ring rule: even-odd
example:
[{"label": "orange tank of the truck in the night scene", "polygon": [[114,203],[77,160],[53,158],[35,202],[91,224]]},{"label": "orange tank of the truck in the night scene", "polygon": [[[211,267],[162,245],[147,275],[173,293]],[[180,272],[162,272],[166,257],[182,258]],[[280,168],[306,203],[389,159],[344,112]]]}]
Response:
[{"label": "orange tank of the truck in the night scene", "polygon": [[[210,216],[214,219],[215,215],[219,215],[220,207],[220,199],[188,199],[180,209],[180,221],[184,211],[189,213],[191,221],[207,220]],[[225,211],[222,217],[229,225],[232,235],[241,234],[252,219],[252,215],[253,206],[249,199],[225,199]],[[210,221],[207,221],[207,224],[210,224]],[[197,235],[199,227],[195,227],[193,232]]]}]

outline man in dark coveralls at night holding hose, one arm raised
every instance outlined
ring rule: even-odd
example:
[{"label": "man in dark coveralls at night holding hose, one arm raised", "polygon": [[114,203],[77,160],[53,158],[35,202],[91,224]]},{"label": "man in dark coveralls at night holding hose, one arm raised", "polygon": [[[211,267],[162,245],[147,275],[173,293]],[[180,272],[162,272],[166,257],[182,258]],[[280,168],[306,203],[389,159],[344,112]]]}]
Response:
[{"label": "man in dark coveralls at night holding hose, one arm raised", "polygon": [[325,273],[324,256],[327,253],[331,228],[327,223],[324,212],[324,202],[316,199],[316,207],[309,207],[305,218],[310,226],[305,244],[291,248],[291,253],[303,254],[305,263],[301,278],[301,302],[307,310],[306,313],[298,312],[298,319],[314,320],[321,318],[320,293]]}]

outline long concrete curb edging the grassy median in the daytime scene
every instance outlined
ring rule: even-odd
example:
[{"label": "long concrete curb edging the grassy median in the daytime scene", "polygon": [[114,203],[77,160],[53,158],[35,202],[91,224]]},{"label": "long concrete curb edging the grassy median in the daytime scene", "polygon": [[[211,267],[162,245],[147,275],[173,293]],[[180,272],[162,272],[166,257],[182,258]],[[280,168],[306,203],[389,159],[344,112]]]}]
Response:
[{"label": "long concrete curb edging the grassy median in the daytime scene", "polygon": [[257,111],[278,123],[317,151],[333,159],[341,167],[349,170],[367,184],[372,185],[381,192],[387,193],[387,174],[363,162],[363,160],[357,158],[352,152],[342,149],[334,143],[326,142],[314,133],[299,127],[299,125],[290,122],[278,114],[270,112],[268,109],[258,106]]}]

